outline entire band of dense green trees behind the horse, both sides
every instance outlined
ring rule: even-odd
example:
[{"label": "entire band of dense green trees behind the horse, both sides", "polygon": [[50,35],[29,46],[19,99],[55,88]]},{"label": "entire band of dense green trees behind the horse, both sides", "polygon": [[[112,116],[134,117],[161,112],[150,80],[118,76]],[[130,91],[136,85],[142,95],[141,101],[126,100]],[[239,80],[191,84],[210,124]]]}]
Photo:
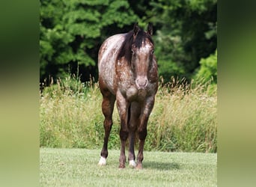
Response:
[{"label": "entire band of dense green trees behind the horse, both sides", "polygon": [[216,77],[216,69],[199,63],[216,51],[216,12],[216,0],[40,1],[40,82],[49,76],[56,82],[77,70],[83,82],[90,75],[97,79],[100,44],[131,30],[134,22],[142,28],[153,22],[159,75],[165,82],[171,76],[190,80],[198,69],[204,69],[200,76]]}]

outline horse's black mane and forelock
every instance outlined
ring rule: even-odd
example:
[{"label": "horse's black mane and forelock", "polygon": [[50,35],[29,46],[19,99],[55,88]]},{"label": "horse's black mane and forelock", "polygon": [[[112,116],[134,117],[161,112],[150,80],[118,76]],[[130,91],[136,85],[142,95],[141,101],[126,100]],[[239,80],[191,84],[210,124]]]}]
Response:
[{"label": "horse's black mane and forelock", "polygon": [[153,43],[152,37],[147,32],[144,32],[142,29],[138,30],[138,34],[133,39],[133,31],[129,31],[125,36],[124,42],[122,43],[121,49],[118,52],[118,60],[124,57],[128,63],[131,63],[132,58],[132,44],[135,45],[138,49],[141,48],[141,45],[145,40],[150,40],[150,43]]}]

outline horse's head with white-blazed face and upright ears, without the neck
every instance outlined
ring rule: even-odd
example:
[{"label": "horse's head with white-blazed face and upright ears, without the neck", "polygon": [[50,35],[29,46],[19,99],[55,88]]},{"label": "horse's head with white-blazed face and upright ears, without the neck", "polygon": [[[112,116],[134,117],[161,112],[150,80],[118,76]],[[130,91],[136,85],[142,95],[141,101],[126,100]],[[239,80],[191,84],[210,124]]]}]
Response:
[{"label": "horse's head with white-blazed face and upright ears, without the neck", "polygon": [[138,90],[147,88],[148,72],[153,64],[153,40],[151,39],[152,25],[147,25],[147,31],[134,25],[131,45],[130,65],[135,75],[135,85]]}]

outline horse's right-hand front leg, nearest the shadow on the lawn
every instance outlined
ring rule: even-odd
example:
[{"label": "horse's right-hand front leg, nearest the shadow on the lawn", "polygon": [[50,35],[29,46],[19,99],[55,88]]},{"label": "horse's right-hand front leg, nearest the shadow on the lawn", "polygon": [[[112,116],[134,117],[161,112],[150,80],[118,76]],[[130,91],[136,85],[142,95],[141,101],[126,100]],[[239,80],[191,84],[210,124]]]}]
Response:
[{"label": "horse's right-hand front leg, nearest the shadow on the lawn", "polygon": [[137,169],[142,169],[142,160],[144,159],[143,156],[143,150],[144,150],[144,142],[147,136],[147,120],[150,116],[150,113],[153,109],[153,104],[154,104],[154,96],[151,96],[147,98],[144,102],[144,107],[141,109],[141,115],[139,117],[139,122],[138,122],[138,139],[139,139],[139,144],[138,144],[138,156],[137,156]]}]

